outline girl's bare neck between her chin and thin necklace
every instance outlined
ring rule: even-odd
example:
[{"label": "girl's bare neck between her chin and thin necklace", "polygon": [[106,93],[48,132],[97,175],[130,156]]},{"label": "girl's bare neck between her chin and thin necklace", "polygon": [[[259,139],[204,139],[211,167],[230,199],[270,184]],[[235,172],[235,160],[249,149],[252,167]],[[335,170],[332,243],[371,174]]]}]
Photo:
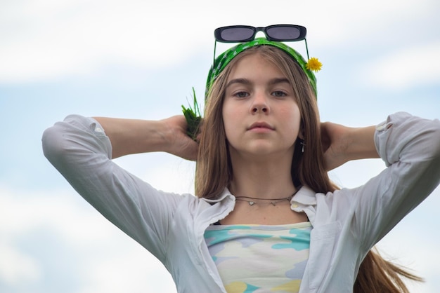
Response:
[{"label": "girl's bare neck between her chin and thin necklace", "polygon": [[290,168],[292,158],[270,159],[233,158],[233,180],[229,189],[235,196],[274,199],[295,193]]}]

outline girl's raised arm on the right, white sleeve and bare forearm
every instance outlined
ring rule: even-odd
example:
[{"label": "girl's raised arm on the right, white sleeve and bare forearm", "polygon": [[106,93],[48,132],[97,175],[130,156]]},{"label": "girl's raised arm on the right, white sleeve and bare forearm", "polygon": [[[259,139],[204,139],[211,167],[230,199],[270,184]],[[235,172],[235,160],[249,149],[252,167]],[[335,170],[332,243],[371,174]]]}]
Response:
[{"label": "girl's raised arm on the right, white sleeve and bare forearm", "polygon": [[[344,201],[344,205],[335,207],[333,214],[352,217],[350,233],[369,250],[439,185],[440,121],[400,112],[390,115],[375,128],[347,130],[332,126],[330,133],[341,131],[349,137],[341,139],[344,143],[332,142],[328,147],[326,156],[332,151],[339,154],[335,155],[340,159],[335,160],[334,165],[349,158],[372,158],[379,154],[387,166],[363,186],[335,191],[334,196],[328,198]],[[345,145],[340,148],[345,151],[335,151],[337,145]]]}]

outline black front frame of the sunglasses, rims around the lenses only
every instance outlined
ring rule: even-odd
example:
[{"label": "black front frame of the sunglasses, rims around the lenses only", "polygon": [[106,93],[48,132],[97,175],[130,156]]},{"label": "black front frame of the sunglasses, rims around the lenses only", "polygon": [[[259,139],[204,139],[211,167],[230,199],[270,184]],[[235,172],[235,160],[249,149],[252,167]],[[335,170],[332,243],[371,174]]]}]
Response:
[{"label": "black front frame of the sunglasses, rims around the lenses only", "polygon": [[[295,39],[278,39],[274,38],[272,36],[268,35],[268,30],[275,28],[275,27],[292,27],[295,29],[298,29],[299,36]],[[221,33],[225,29],[252,29],[253,34],[247,39],[236,39],[236,40],[225,40],[221,37]],[[214,37],[216,41],[219,41],[221,43],[241,43],[241,42],[247,42],[252,41],[255,39],[255,36],[257,35],[257,32],[264,32],[264,35],[266,36],[266,40],[268,41],[302,41],[306,39],[307,29],[303,27],[302,25],[268,25],[267,27],[252,27],[251,25],[229,25],[227,27],[219,27],[214,30]]]}]

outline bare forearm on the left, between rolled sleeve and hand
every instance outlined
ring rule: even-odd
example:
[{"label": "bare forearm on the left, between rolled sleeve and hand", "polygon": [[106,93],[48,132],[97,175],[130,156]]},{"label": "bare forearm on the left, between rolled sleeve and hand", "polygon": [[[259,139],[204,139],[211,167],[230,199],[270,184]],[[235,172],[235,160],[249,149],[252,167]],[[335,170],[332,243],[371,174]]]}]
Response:
[{"label": "bare forearm on the left, between rolled sleeve and hand", "polygon": [[168,128],[162,121],[94,117],[112,143],[112,158],[167,151]]}]

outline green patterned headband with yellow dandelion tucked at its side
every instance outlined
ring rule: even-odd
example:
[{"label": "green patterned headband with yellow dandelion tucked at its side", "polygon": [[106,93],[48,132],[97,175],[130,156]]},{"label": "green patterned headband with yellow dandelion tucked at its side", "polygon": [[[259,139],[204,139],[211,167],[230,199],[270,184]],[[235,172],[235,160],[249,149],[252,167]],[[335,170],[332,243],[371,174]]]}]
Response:
[{"label": "green patterned headband with yellow dandelion tucked at its side", "polygon": [[[316,77],[315,77],[315,74],[313,74],[313,72],[310,70],[310,69],[312,69],[312,70],[317,71],[317,70],[321,69],[321,63],[319,63],[319,61],[316,58],[311,58],[309,60],[309,62],[306,62],[304,60],[304,58],[302,57],[302,55],[300,55],[296,50],[287,46],[285,43],[276,42],[276,41],[268,41],[264,38],[257,38],[257,39],[254,39],[253,41],[249,41],[247,43],[240,43],[237,46],[234,46],[234,47],[226,50],[224,53],[221,53],[221,55],[219,55],[219,57],[216,57],[216,60],[214,62],[215,68],[213,65],[211,67],[211,69],[209,69],[208,79],[207,79],[207,83],[206,83],[205,98],[207,97],[207,95],[209,93],[209,89],[211,88],[212,83],[214,83],[217,76],[219,76],[221,71],[223,71],[223,69],[225,69],[226,65],[228,65],[229,62],[231,62],[231,60],[233,60],[233,58],[235,56],[242,53],[244,50],[247,50],[247,49],[252,48],[254,46],[263,46],[263,45],[273,46],[273,47],[279,48],[279,49],[283,50],[285,53],[289,54],[293,58],[293,60],[295,60],[297,62],[297,64],[299,64],[299,67],[302,68],[302,70],[306,74],[307,78],[309,79],[310,85],[313,88],[315,95],[317,95]],[[310,64],[310,62],[318,62],[319,64]],[[319,69],[316,69],[318,67],[319,67]]]}]

